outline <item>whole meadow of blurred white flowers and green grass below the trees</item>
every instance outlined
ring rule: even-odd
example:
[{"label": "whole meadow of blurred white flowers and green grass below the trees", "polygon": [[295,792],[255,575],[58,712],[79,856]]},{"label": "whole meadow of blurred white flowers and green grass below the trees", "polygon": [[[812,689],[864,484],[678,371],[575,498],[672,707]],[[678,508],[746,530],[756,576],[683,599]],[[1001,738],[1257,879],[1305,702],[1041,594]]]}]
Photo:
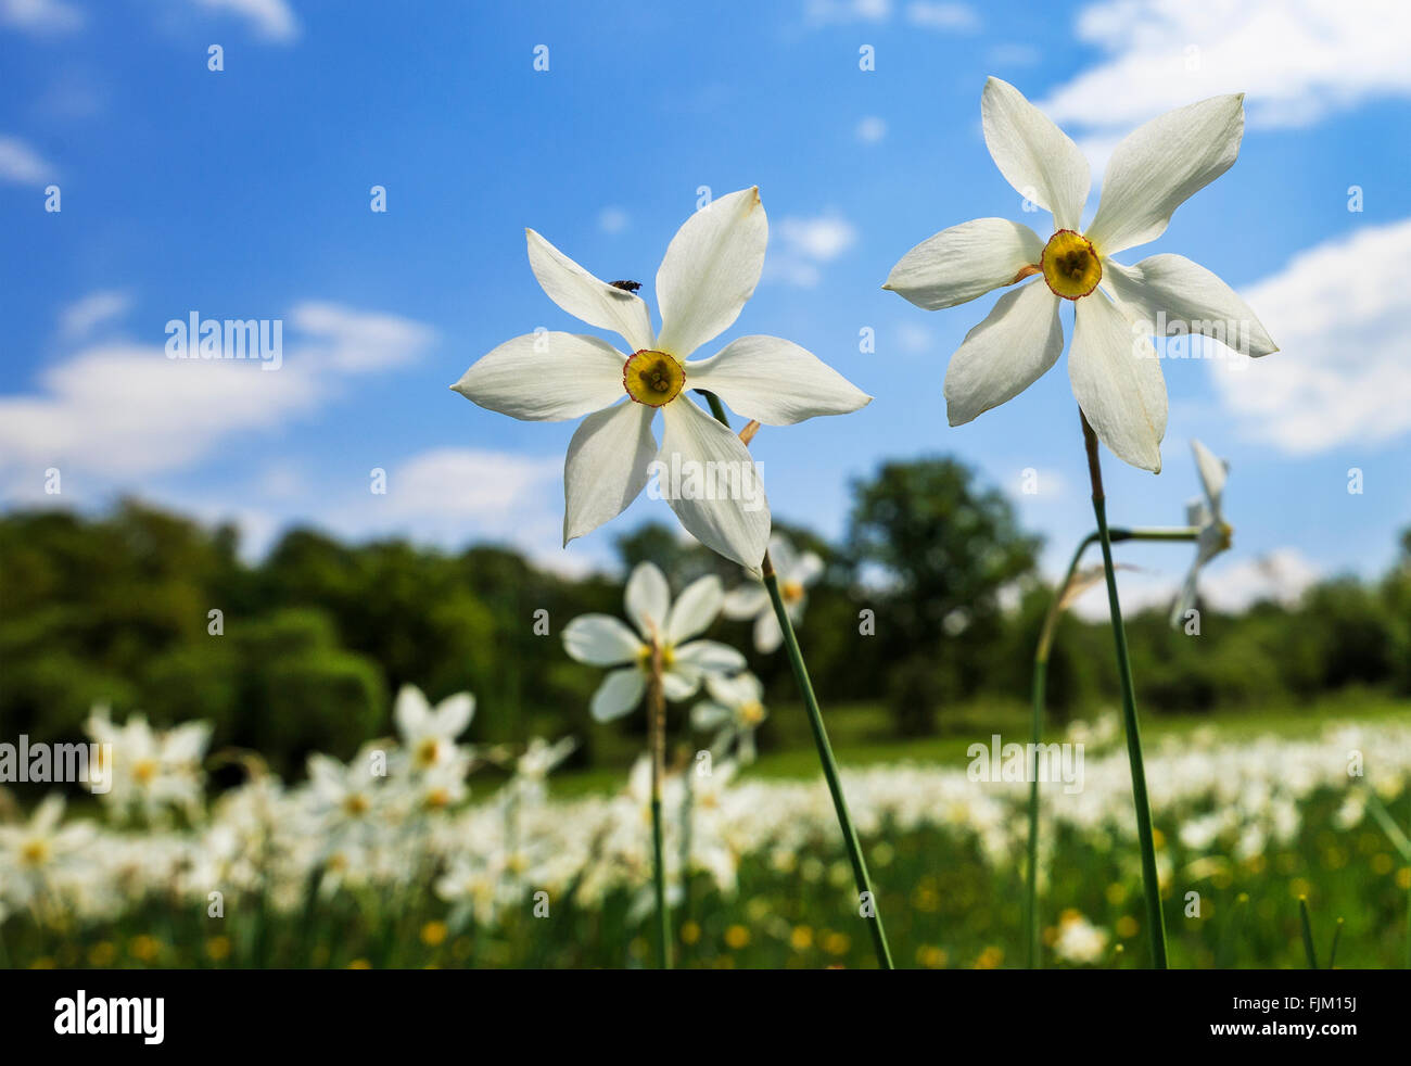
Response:
[{"label": "whole meadow of blurred white flowers and green grass below the trees", "polygon": [[[468,695],[432,707],[405,689],[396,738],[346,764],[313,755],[298,784],[253,754],[210,755],[202,723],[95,713],[93,740],[127,755],[110,791],[23,813],[6,796],[0,963],[648,964],[648,762],[617,795],[555,799],[573,743],[477,750],[457,743],[471,713]],[[1075,726],[1084,788],[1043,788],[1046,966],[1143,964],[1119,734],[1115,717]],[[231,758],[244,784],[209,795],[206,771]],[[1405,964],[1411,724],[1212,730],[1156,745],[1147,771],[1175,964],[1305,964],[1300,897],[1319,952],[1342,919],[1339,964]],[[844,771],[844,786],[897,963],[1020,964],[1027,785],[896,764]],[[667,772],[663,806],[679,964],[871,964],[821,779],[703,753]]]}]

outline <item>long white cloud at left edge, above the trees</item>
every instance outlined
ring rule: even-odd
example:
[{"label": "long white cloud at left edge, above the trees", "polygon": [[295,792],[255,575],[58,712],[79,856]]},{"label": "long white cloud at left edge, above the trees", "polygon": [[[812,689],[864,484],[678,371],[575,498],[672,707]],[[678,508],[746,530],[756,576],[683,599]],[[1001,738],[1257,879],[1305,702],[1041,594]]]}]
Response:
[{"label": "long white cloud at left edge, above the trees", "polygon": [[42,371],[35,393],[0,395],[0,489],[31,496],[49,466],[99,480],[189,469],[241,436],[308,417],[351,376],[413,359],[433,336],[333,304],[301,304],[289,325],[295,339],[274,371],[172,360],[161,343],[82,347]]}]

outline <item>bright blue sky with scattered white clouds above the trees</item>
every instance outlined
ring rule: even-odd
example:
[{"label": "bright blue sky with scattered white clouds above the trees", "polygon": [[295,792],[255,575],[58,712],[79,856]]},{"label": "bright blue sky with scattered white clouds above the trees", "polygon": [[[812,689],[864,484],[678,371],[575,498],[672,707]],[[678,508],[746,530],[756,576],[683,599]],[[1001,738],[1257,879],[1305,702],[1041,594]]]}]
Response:
[{"label": "bright blue sky with scattered white clouds above the trees", "polygon": [[[698,189],[759,185],[765,278],[721,342],[786,336],[876,397],[756,438],[776,517],[835,535],[849,479],[952,453],[1013,496],[1057,570],[1091,528],[1065,363],[951,429],[945,364],[995,298],[924,312],[880,289],[947,226],[1047,232],[985,150],[979,96],[998,75],[1092,158],[1085,217],[1126,130],[1247,93],[1239,162],[1122,258],[1194,258],[1283,350],[1243,369],[1167,360],[1165,469],[1108,455],[1112,517],[1178,522],[1198,436],[1232,463],[1236,527],[1208,593],[1237,603],[1380,572],[1411,522],[1407,7],[1061,7],[0,0],[4,504],[97,508],[131,491],[234,518],[255,549],[305,521],[509,539],[570,569],[610,561],[611,537],[670,521],[665,505],[642,500],[564,552],[573,424],[515,422],[447,385],[536,326],[583,332],[535,284],[525,226],[649,297]],[[207,69],[210,45],[223,71]],[[165,323],[192,311],[281,319],[284,367],[166,360]],[[864,329],[875,352],[859,350]],[[368,490],[373,467],[385,496]],[[1174,548],[1129,558],[1147,568],[1126,576],[1139,599],[1187,562]]]}]

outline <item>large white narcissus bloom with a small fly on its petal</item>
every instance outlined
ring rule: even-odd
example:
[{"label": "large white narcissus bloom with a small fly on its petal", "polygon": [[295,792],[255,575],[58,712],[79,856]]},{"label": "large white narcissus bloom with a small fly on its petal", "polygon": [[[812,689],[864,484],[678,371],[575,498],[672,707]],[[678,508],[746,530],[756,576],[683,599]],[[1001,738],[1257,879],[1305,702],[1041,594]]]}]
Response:
[{"label": "large white narcissus bloom with a small fly on its petal", "polygon": [[[529,267],[549,299],[590,326],[619,333],[628,354],[597,337],[540,330],[494,349],[452,388],[514,418],[587,415],[563,467],[564,545],[632,503],[655,459],[658,470],[683,474],[679,490],[663,491],[682,525],[707,548],[758,568],[769,539],[769,505],[749,452],[691,402],[687,390],[708,390],[765,425],[845,414],[871,401],[814,354],[779,337],[739,337],[710,359],[687,361],[735,322],[759,281],[769,237],[759,189],[721,196],[677,230],[656,271],[659,335],[641,298],[595,278],[533,230],[526,233]],[[652,433],[658,409],[660,446]],[[734,483],[729,491],[700,491],[700,479],[717,474],[751,480],[742,491]]]}]

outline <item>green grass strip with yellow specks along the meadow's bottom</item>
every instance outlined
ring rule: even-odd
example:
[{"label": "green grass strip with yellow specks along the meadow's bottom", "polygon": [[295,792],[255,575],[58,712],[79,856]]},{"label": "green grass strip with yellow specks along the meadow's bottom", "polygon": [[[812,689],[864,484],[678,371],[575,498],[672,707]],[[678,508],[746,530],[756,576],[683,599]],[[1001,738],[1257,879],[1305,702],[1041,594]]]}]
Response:
[{"label": "green grass strip with yellow specks along the meadow's bottom", "polygon": [[[1411,795],[1411,793],[1408,793]],[[1407,809],[1408,795],[1394,801]],[[1319,952],[1345,919],[1338,963],[1397,967],[1407,943],[1407,874],[1386,836],[1370,823],[1340,832],[1339,803],[1321,791],[1302,805],[1304,825],[1287,846],[1240,861],[1205,861],[1168,888],[1165,908],[1177,967],[1307,966],[1298,909],[1307,897]],[[1157,813],[1175,870],[1195,858]],[[1081,914],[1106,935],[1099,967],[1146,964],[1141,898],[1127,849],[1062,830],[1062,857],[1044,894],[1044,943]],[[903,967],[1015,966],[1022,959],[1022,914],[1015,868],[996,868],[972,840],[952,832],[899,832],[883,826],[868,842],[879,902]],[[676,909],[677,962],[697,969],[824,966],[872,967],[872,949],[848,891],[842,849],[817,839],[783,868],[748,856],[739,888],[721,895],[694,878],[691,899]],[[1198,915],[1182,897],[1201,894]],[[650,964],[648,926],[626,918],[629,892],[577,906],[571,894],[547,921],[509,906],[494,928],[447,929],[447,906],[423,888],[385,898],[377,891],[339,895],[312,911],[265,912],[261,901],[233,901],[230,919],[203,906],[174,909],[150,899],[117,921],[82,928],[37,928],[27,918],[4,928],[11,964],[61,967],[632,967]],[[253,909],[251,909],[253,908]],[[1058,966],[1050,947],[1044,964]],[[0,963],[3,964],[3,963]]]}]

